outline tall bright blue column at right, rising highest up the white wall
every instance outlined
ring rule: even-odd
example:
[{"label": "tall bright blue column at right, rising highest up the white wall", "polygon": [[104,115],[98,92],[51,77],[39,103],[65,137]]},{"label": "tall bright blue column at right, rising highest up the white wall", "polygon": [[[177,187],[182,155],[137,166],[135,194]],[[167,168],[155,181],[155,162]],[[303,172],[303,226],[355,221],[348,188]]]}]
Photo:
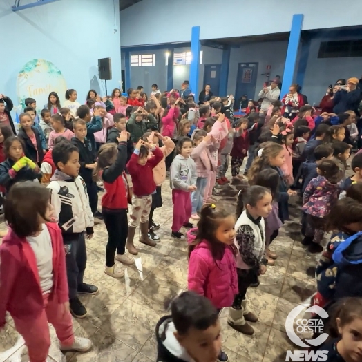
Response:
[{"label": "tall bright blue column at right, rising highest up the white wall", "polygon": [[303,25],[303,14],[293,15],[292,28],[290,29],[287,58],[285,59],[285,68],[283,75],[283,84],[280,98],[289,93],[289,87],[293,83],[294,69],[296,68],[296,57],[298,56],[299,40],[301,39],[301,30]]}]

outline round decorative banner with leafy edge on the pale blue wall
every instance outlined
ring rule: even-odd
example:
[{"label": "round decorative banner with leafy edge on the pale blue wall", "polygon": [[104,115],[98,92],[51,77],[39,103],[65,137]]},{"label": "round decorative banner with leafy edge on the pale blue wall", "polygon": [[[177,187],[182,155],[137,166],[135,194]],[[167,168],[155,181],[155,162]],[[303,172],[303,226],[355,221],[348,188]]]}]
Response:
[{"label": "round decorative banner with leafy edge on the pale blue wall", "polygon": [[25,108],[25,99],[37,101],[37,113],[48,103],[50,92],[59,95],[60,104],[65,101],[66,79],[51,61],[32,59],[23,66],[17,77],[17,97],[19,111]]}]

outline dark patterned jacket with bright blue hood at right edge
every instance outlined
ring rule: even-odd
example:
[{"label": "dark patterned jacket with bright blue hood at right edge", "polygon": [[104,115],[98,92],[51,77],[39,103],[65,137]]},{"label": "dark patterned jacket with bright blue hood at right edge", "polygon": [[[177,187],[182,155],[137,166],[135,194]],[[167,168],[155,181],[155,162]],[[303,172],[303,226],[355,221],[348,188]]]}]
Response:
[{"label": "dark patterned jacket with bright blue hood at right edge", "polygon": [[316,267],[318,292],[329,300],[362,296],[362,231],[333,234]]}]

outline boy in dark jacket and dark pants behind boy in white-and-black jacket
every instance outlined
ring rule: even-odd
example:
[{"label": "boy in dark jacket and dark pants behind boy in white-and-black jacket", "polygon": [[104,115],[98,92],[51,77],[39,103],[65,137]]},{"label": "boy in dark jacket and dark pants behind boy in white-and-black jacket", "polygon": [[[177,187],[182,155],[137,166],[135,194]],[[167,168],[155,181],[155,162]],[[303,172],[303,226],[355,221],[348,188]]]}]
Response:
[{"label": "boy in dark jacket and dark pants behind boy in white-and-black jacket", "polygon": [[84,120],[73,122],[73,131],[75,137],[72,138],[72,143],[79,149],[79,175],[86,183],[87,193],[89,197],[90,209],[95,218],[103,219],[102,213],[97,210],[98,193],[97,183],[93,181],[92,172],[95,168],[96,152],[92,144],[86,138],[87,128]]}]

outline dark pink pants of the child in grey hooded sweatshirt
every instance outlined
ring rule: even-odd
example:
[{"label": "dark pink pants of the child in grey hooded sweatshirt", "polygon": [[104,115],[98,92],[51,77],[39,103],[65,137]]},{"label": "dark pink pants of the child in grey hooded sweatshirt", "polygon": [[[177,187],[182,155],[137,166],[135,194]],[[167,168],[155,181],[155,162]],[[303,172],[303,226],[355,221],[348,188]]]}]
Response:
[{"label": "dark pink pants of the child in grey hooded sweatshirt", "polygon": [[191,193],[189,191],[172,190],[173,220],[172,231],[180,231],[182,225],[191,218]]}]

